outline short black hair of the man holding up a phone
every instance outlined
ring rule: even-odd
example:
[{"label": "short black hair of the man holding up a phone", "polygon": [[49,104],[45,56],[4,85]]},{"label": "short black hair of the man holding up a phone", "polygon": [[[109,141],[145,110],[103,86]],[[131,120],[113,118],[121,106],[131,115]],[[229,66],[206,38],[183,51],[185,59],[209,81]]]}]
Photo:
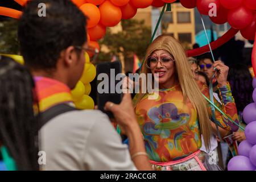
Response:
[{"label": "short black hair of the man holding up a phone", "polygon": [[[40,3],[46,5],[46,16],[39,16]],[[19,20],[18,39],[29,68],[54,69],[61,51],[87,41],[86,17],[71,0],[28,1]]]}]

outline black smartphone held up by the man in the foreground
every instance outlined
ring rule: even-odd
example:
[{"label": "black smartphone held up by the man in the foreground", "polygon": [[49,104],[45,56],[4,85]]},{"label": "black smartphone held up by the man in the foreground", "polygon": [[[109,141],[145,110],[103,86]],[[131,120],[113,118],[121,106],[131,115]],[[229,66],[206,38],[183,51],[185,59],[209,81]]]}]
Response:
[{"label": "black smartphone held up by the man in the foreground", "polygon": [[[104,110],[106,102],[120,104],[122,92],[120,93],[120,83],[117,77],[122,73],[122,64],[119,61],[100,63],[97,65],[97,105],[98,109],[106,113],[109,118],[114,118],[113,113]],[[120,78],[120,77],[119,77]]]}]

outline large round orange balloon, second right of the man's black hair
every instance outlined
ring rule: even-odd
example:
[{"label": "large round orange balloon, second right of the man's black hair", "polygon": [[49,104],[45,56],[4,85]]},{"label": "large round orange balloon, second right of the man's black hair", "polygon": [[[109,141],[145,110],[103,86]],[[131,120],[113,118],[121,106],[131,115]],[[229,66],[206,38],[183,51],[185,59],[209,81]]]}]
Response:
[{"label": "large round orange balloon, second right of the man's black hair", "polygon": [[106,27],[116,26],[122,18],[122,11],[110,1],[105,1],[99,7],[101,13],[101,24]]}]

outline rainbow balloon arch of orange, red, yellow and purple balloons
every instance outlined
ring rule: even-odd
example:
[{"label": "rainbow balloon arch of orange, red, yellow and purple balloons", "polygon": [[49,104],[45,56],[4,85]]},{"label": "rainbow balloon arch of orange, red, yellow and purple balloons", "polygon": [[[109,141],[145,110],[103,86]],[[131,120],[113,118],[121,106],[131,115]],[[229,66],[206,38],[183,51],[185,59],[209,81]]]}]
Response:
[{"label": "rainbow balloon arch of orange, red, yellow and purple balloons", "polygon": [[[20,5],[26,5],[28,0],[14,0]],[[106,27],[116,26],[121,19],[130,19],[135,16],[137,9],[143,9],[148,6],[162,7],[166,4],[175,2],[176,0],[72,0],[80,10],[88,16],[88,38],[89,46],[100,48],[97,41],[105,36]],[[193,9],[197,7],[200,14],[209,15],[209,11],[214,5],[217,10],[217,16],[210,19],[213,23],[224,24],[228,22],[232,28],[227,31],[221,38],[210,43],[212,49],[220,47],[241,32],[242,36],[247,40],[255,40],[256,42],[256,1],[255,0],[180,0],[181,5],[185,8]],[[214,3],[214,4],[211,4]],[[19,18],[21,11],[0,7],[0,15],[9,16],[11,18]],[[209,52],[209,45],[187,51],[187,56],[197,56],[205,52]],[[92,56],[92,55],[90,55]],[[86,61],[89,61],[87,56]],[[251,56],[254,75],[256,76],[256,46],[254,44]],[[91,67],[91,65],[89,66]],[[86,72],[90,72],[92,77],[89,80],[82,81],[83,84],[89,84],[95,77],[95,68],[85,68]],[[82,84],[77,84],[75,96],[81,93]],[[254,103],[249,104],[243,111],[243,119],[248,124],[245,128],[246,140],[238,146],[238,156],[232,158],[228,164],[229,170],[255,170],[256,169],[256,78],[253,81]],[[85,87],[86,88],[86,87]],[[90,92],[90,85],[87,88]],[[85,91],[82,90],[82,93]],[[89,94],[89,92],[87,92]],[[86,94],[83,96],[83,98]],[[79,98],[79,97],[77,97]],[[89,98],[86,98],[87,100]],[[91,108],[79,100],[77,105],[83,108]],[[84,100],[85,101],[85,100]],[[93,101],[90,101],[93,102]],[[86,105],[86,106],[84,106]]]}]

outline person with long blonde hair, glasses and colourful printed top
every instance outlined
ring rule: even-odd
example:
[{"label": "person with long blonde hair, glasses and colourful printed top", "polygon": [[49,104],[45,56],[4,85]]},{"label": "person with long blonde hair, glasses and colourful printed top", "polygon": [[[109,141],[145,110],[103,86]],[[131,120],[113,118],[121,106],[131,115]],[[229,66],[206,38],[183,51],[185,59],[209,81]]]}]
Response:
[{"label": "person with long blonde hair, glasses and colourful printed top", "polygon": [[[214,103],[238,123],[236,105],[226,81],[228,67],[221,61],[213,66],[224,104]],[[152,73],[159,81],[155,100],[148,99],[150,93],[139,93],[134,98],[135,113],[153,168],[206,170],[209,162],[204,161],[200,147],[201,134],[205,147],[210,147],[212,113],[203,97],[204,94],[209,98],[209,89],[193,77],[181,44],[168,35],[156,38],[147,49],[141,73]],[[218,111],[214,115],[218,126],[231,131],[238,129]]]}]

